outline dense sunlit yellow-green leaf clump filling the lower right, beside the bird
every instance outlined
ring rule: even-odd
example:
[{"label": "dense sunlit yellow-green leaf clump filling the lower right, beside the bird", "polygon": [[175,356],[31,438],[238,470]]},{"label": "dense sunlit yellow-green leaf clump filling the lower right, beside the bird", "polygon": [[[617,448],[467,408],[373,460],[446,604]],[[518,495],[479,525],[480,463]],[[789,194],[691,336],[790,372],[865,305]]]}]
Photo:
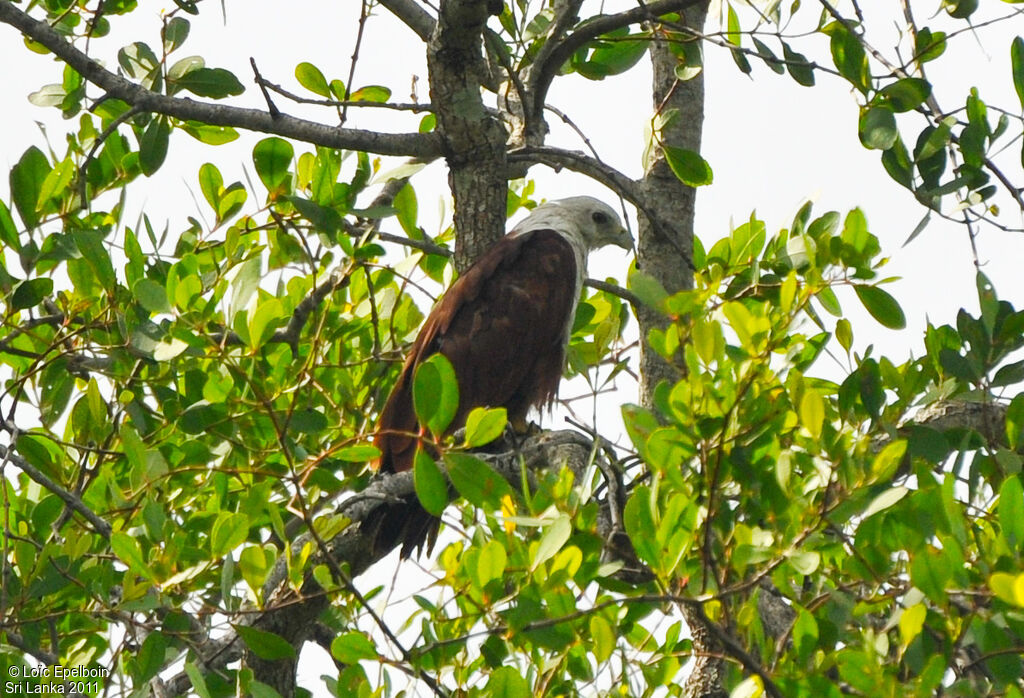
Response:
[{"label": "dense sunlit yellow-green leaf clump filling the lower right, beside the bird", "polygon": [[[786,238],[799,234],[817,253],[797,269]],[[1024,312],[979,274],[981,315],[930,328],[921,358],[851,353],[850,324],[825,332],[821,312],[842,317],[844,287],[885,293],[869,285],[878,254],[859,211],[811,220],[808,206],[790,230],[766,239],[752,218],[700,255],[696,288],[660,303],[677,321],[652,338],[686,378],[656,411],[625,407],[650,472],[626,529],[662,588],[713,600],[709,615],[775,657],[782,695],[1004,691],[1024,638],[1024,599],[1009,591],[1024,579],[1020,427],[1008,420],[1004,445],[979,449],[970,430],[912,418],[939,398],[992,399],[1024,366],[1008,362]],[[873,314],[895,323],[899,305],[881,298]],[[845,380],[816,378],[836,350]],[[781,636],[763,624],[762,580],[792,602]],[[965,642],[984,648],[971,661],[988,681],[949,681]]]}]

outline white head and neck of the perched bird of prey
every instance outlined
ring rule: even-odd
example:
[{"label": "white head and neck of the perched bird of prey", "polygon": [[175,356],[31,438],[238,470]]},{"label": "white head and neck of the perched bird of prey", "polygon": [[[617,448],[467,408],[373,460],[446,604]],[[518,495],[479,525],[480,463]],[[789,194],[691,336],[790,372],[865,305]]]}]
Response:
[{"label": "white head and neck of the perched bird of prey", "polygon": [[623,227],[618,214],[593,197],[569,197],[542,204],[515,226],[512,234],[542,228],[579,236],[587,252],[605,245],[633,250],[633,236]]}]

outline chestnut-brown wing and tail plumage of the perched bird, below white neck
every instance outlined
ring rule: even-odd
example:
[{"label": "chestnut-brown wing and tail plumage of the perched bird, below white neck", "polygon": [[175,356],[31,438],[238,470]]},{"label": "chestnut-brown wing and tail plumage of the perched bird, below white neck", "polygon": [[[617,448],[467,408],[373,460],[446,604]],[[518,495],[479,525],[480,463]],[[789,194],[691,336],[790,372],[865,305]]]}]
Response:
[{"label": "chestnut-brown wing and tail plumage of the perched bird, below white neck", "polygon": [[[437,352],[452,362],[459,381],[459,408],[450,432],[463,427],[474,407],[503,406],[510,420],[519,422],[530,407],[550,404],[565,359],[566,324],[579,293],[575,278],[571,246],[547,229],[503,237],[460,276],[431,310],[381,412],[374,442],[381,451],[380,469],[399,473],[413,467],[420,430],[413,374]],[[428,522],[426,530],[417,526],[414,531],[412,524],[423,522],[410,520],[394,531],[402,536],[407,557],[436,532],[436,519],[412,504]],[[403,516],[422,518],[412,510]],[[410,537],[418,540],[411,546]]]}]

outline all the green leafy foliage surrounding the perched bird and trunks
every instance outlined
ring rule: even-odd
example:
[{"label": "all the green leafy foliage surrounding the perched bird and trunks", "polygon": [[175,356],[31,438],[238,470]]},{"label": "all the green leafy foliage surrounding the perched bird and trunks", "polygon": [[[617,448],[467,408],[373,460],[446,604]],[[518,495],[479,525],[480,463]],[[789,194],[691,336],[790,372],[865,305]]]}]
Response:
[{"label": "all the green leafy foliage surrounding the perched bird and trunks", "polygon": [[[156,97],[187,93],[175,108],[205,107],[245,85],[179,57],[189,17],[208,6],[175,4],[159,50],[134,41],[117,54],[148,101],[113,94],[113,83],[98,99],[87,67],[61,55],[60,82],[30,98],[68,120],[66,147],[28,146],[0,202],[5,677],[43,661],[108,667],[123,695],[156,694],[158,681],[178,677],[178,693],[274,695],[250,666],[210,668],[201,650],[237,637],[247,657],[291,660],[301,647],[258,626],[254,610],[326,597],[318,627],[337,670],[325,670],[323,690],[334,695],[393,695],[394,667],[467,695],[678,695],[700,650],[681,608],[720,634],[734,695],[1021,695],[1024,310],[979,272],[979,311],[929,326],[918,358],[856,351],[845,306],[906,324],[858,209],[814,217],[808,205],[775,234],[752,216],[709,249],[695,241],[690,290],[634,270],[632,294],[588,291],[567,372],[597,395],[631,370],[626,296],[665,319],[643,339],[678,381],[649,405],[622,407],[632,448],[610,468],[594,454],[584,470],[552,464],[509,482],[468,452],[501,435],[501,409],[471,413],[460,442],[439,444],[438,463],[421,453],[417,495],[465,534],[438,553],[430,594],[415,596],[401,622],[381,620],[387,590],[358,594],[348,561],[325,562],[325,541],[350,528],[337,503],[372,478],[375,416],[423,319],[411,290],[453,273],[454,231],[431,238],[419,224],[423,162],[387,175],[375,155],[409,142],[420,158],[437,120],[406,105],[417,138],[373,134],[340,147],[331,138],[351,134],[333,121],[301,131],[280,115],[180,118]],[[914,235],[933,214],[963,219],[972,235],[1008,227],[996,220],[1000,197],[1024,209],[1002,149],[1019,147],[1019,110],[972,90],[944,112],[926,73],[976,2],[942,4],[955,29],[908,18],[894,49],[905,59],[886,58],[830,3],[820,18],[799,3],[757,13],[723,3],[721,31],[705,35],[681,24],[679,7],[591,35],[600,17],[575,21],[563,4],[505,4],[489,25],[495,64],[603,80],[668,42],[685,82],[701,75],[700,39],[746,73],[753,59],[807,87],[824,76],[848,83],[860,142],[929,212]],[[32,7],[83,49],[134,10],[128,0]],[[19,12],[0,0],[5,23]],[[808,15],[809,36],[790,32]],[[22,31],[29,49],[52,50],[43,30]],[[557,66],[544,62],[566,46]],[[816,52],[820,61],[807,58]],[[1024,107],[1020,38],[1009,54]],[[338,114],[400,106],[388,87],[352,89],[309,62],[296,79]],[[681,182],[710,184],[711,165],[672,142],[678,122],[672,110],[652,117],[645,162],[660,157]],[[252,148],[254,182],[225,184],[212,162],[189,175],[212,223],[125,220],[175,132],[212,147],[246,129],[267,132]],[[586,162],[609,181],[603,163]],[[611,181],[636,198],[636,182]],[[538,199],[514,183],[504,213]],[[397,224],[410,253],[382,246],[382,221]],[[434,435],[457,404],[445,364],[415,379]],[[940,419],[940,408],[952,411]],[[602,528],[616,467],[628,497],[615,514],[635,556],[609,553]],[[309,537],[286,543],[299,532]],[[783,611],[766,612],[773,603]],[[411,649],[384,639],[388,622],[414,638]]]}]

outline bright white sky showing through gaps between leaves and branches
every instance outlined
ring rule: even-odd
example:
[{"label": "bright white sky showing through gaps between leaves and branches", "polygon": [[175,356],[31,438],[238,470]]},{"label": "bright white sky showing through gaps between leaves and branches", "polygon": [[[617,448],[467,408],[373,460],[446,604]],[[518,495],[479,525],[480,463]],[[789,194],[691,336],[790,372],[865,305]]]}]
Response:
[{"label": "bright white sky showing through gaps between leaves and branches", "polygon": [[[247,86],[242,97],[230,103],[263,107],[259,91],[252,84],[249,57],[254,56],[265,78],[302,92],[294,78],[295,66],[308,60],[332,78],[346,79],[355,37],[354,2],[312,2],[296,0],[225,0],[227,24],[216,8],[219,3],[204,3],[204,12],[193,20],[191,36],[175,56],[201,53],[207,66],[228,68]],[[607,2],[606,11],[629,6],[629,2]],[[871,3],[874,4],[874,3]],[[921,5],[919,20],[933,28],[948,25],[944,16],[929,16],[934,2]],[[1000,5],[1001,3],[992,3]],[[173,8],[170,2],[142,0],[141,9],[130,19],[114,18],[117,40],[96,42],[97,55],[109,66],[116,64],[120,45],[143,39],[159,52],[160,12]],[[927,7],[926,7],[927,6]],[[287,8],[287,9],[286,9]],[[996,7],[1008,11],[1006,5]],[[877,11],[877,10],[874,10]],[[811,11],[814,15],[815,11]],[[813,17],[812,19],[813,20]],[[1019,28],[1019,23],[1017,23]],[[886,50],[897,38],[897,28],[890,18],[872,24],[872,40]],[[936,83],[936,95],[947,111],[962,107],[970,86],[980,88],[990,104],[1016,113],[1019,102],[1013,91],[1009,67],[1009,45],[1014,25],[983,28],[976,36],[965,35],[952,42],[950,50],[930,63],[930,77]],[[123,30],[123,31],[122,31]],[[771,42],[769,42],[771,43]],[[777,43],[771,43],[777,48]],[[821,37],[794,42],[794,47],[829,64],[827,45]],[[853,322],[859,348],[874,344],[876,354],[889,355],[894,361],[910,353],[921,354],[926,319],[934,324],[953,322],[961,307],[976,311],[975,269],[966,229],[933,216],[928,229],[907,247],[901,247],[925,210],[912,195],[892,181],[882,168],[880,154],[865,150],[856,133],[857,107],[854,96],[839,78],[817,74],[817,86],[804,88],[788,76],[775,76],[763,63],[752,59],[754,79],[742,76],[728,54],[719,48],[706,51],[707,118],[702,155],[715,172],[715,182],[700,190],[697,203],[697,233],[705,246],[727,234],[730,221],[744,221],[751,211],[767,222],[769,233],[788,227],[794,214],[807,199],[815,200],[820,215],[837,210],[845,215],[854,206],[863,209],[869,229],[877,234],[885,254],[892,257],[888,275],[901,280],[887,286],[902,304],[908,328],[903,332],[886,330],[874,322],[852,294],[841,294],[844,310]],[[59,70],[46,56],[30,53],[20,45],[15,32],[0,26],[0,91],[6,95],[3,127],[0,129],[0,167],[12,166],[29,144],[44,146],[39,129],[42,122],[51,141],[62,151],[66,124],[55,110],[42,110],[28,102],[26,96],[46,83],[59,82]],[[649,70],[642,63],[626,76],[602,82],[589,82],[569,76],[560,79],[552,90],[553,104],[568,114],[590,136],[602,159],[637,177],[643,149],[643,125],[649,119]],[[354,87],[383,84],[390,87],[394,99],[409,100],[412,77],[419,76],[419,99],[427,101],[426,70],[419,39],[397,24],[383,9],[367,27],[360,50]],[[92,89],[90,94],[96,95]],[[276,99],[285,112],[331,121],[330,111],[293,107]],[[420,116],[401,116],[380,111],[353,110],[352,126],[413,131]],[[550,119],[552,143],[583,149],[583,143]],[[993,117],[994,123],[994,117]],[[402,125],[404,124],[404,125]],[[923,121],[910,120],[901,125],[923,127]],[[170,217],[172,231],[184,226],[185,215],[197,215],[186,186],[195,181],[203,162],[215,159],[225,183],[245,182],[243,168],[252,173],[251,149],[262,135],[244,134],[230,145],[211,149],[183,133],[175,133],[171,151],[163,169],[144,186],[133,187],[135,210],[143,209],[155,224],[162,227]],[[916,131],[904,131],[913,141]],[[297,145],[297,149],[310,149]],[[1010,163],[1008,175],[1024,183],[1020,166],[1020,142],[1004,162]],[[393,164],[385,164],[387,170]],[[554,174],[545,168],[530,172],[537,179],[539,195],[558,199],[577,193],[591,193],[610,201],[607,191],[571,173]],[[253,181],[256,178],[252,177]],[[443,169],[434,165],[414,180],[420,199],[421,224],[428,232],[439,226],[436,202],[446,195]],[[144,189],[140,193],[138,189]],[[0,182],[5,199],[7,182]],[[259,192],[262,197],[262,192]],[[196,193],[202,201],[202,197]],[[951,198],[948,205],[952,205]],[[250,192],[247,210],[254,198]],[[1004,214],[1000,221],[1021,227],[1022,216],[1007,197],[999,197]],[[203,205],[205,207],[205,204]],[[202,213],[209,219],[209,213]],[[632,215],[632,212],[631,212]],[[136,214],[126,216],[133,224]],[[197,216],[199,217],[199,216]],[[396,223],[385,229],[400,232]],[[635,228],[634,228],[635,229]],[[982,228],[978,249],[984,271],[994,281],[999,296],[1024,306],[1024,283],[1020,273],[1024,263],[1024,234],[1005,233]],[[624,278],[626,262],[621,254],[604,252],[592,261],[591,275],[614,275]],[[578,394],[563,387],[562,395]],[[623,398],[634,400],[633,395]],[[615,410],[617,411],[617,410]],[[604,418],[602,418],[604,419]],[[617,415],[610,418],[617,424]],[[390,571],[382,571],[390,574]],[[377,579],[378,582],[386,580]],[[321,667],[322,669],[324,667]],[[303,683],[315,684],[321,672],[311,668]],[[327,669],[332,672],[332,669]]]}]

